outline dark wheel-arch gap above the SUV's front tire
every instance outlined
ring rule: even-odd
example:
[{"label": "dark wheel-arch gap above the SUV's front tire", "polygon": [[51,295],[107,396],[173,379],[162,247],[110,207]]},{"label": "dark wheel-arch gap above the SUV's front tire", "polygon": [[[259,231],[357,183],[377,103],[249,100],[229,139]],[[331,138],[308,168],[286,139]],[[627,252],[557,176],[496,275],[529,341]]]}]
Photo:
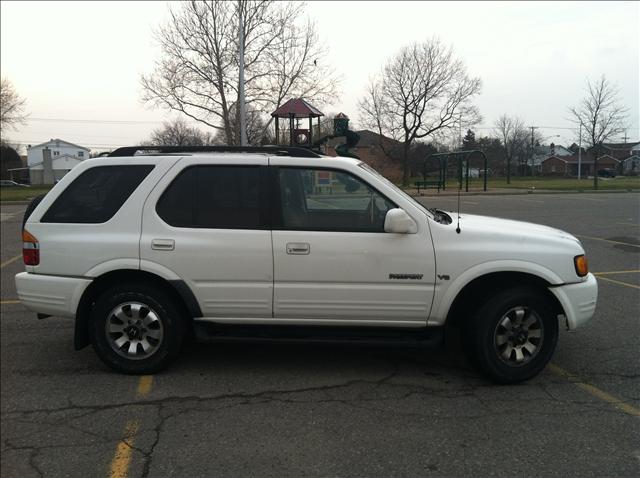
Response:
[{"label": "dark wheel-arch gap above the SUV's front tire", "polygon": [[514,285],[528,285],[539,290],[552,304],[557,314],[564,314],[560,301],[549,290],[552,285],[546,279],[527,272],[491,272],[474,278],[456,295],[446,315],[446,325],[459,326],[472,308],[492,297],[492,292]]}]

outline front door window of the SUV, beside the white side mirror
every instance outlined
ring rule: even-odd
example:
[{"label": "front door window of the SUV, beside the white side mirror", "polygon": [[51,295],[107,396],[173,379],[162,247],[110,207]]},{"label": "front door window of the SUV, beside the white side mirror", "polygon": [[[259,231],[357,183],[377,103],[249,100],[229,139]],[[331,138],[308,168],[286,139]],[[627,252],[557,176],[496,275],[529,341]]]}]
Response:
[{"label": "front door window of the SUV, beside the white side mirror", "polygon": [[287,230],[384,232],[396,207],[361,179],[330,169],[280,168],[282,228]]}]

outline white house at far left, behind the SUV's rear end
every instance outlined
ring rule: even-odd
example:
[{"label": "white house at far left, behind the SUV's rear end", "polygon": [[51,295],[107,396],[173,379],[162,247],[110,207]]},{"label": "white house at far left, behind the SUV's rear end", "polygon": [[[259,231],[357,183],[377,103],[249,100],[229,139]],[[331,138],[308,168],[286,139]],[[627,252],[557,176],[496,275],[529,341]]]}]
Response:
[{"label": "white house at far left, behind the SUV's rear end", "polygon": [[[59,138],[27,147],[27,167],[31,184],[52,184],[89,157],[89,148]],[[48,173],[48,160],[51,172]]]}]

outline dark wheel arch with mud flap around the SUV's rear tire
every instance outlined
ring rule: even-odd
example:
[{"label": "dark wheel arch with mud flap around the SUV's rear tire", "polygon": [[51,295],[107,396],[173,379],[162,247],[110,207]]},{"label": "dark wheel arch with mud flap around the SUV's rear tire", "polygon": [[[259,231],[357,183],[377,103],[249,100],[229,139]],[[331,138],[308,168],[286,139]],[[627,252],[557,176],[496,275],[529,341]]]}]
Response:
[{"label": "dark wheel arch with mud flap around the SUV's rear tire", "polygon": [[151,272],[136,269],[120,269],[106,272],[91,282],[78,303],[74,333],[76,350],[80,350],[90,344],[88,325],[95,300],[104,290],[124,282],[139,282],[157,287],[172,298],[184,312],[185,317],[189,319],[202,317],[198,301],[189,286],[182,280],[167,280]]}]

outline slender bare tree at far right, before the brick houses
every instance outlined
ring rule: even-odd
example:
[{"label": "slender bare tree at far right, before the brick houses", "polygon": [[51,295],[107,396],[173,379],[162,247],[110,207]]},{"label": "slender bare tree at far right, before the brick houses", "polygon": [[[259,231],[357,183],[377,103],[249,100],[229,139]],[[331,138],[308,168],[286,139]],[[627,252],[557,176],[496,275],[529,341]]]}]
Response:
[{"label": "slender bare tree at far right, before the brick houses", "polygon": [[584,130],[593,154],[593,187],[598,189],[598,157],[602,144],[625,130],[628,109],[618,100],[618,89],[605,75],[587,80],[586,96],[576,107],[569,108],[574,123]]}]

